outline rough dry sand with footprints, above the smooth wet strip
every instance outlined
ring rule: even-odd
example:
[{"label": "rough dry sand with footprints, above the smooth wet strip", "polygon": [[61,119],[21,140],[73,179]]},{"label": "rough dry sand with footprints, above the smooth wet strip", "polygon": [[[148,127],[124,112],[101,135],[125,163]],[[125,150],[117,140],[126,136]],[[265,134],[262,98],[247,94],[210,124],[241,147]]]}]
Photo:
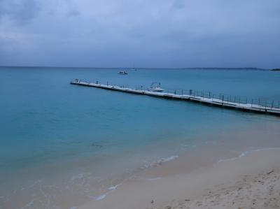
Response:
[{"label": "rough dry sand with footprints, above the smooth wet strip", "polygon": [[280,208],[279,170],[258,175],[244,175],[234,184],[223,184],[207,189],[205,194],[196,199],[167,201],[147,209],[181,208]]}]

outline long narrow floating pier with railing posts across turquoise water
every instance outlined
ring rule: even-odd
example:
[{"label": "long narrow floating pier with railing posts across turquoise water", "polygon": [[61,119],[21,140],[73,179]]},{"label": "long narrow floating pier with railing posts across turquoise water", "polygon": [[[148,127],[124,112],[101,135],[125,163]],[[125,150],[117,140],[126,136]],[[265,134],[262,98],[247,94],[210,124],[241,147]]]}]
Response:
[{"label": "long narrow floating pier with railing posts across turquoise water", "polygon": [[125,92],[125,93],[130,93],[130,94],[140,94],[140,95],[146,95],[146,96],[155,96],[155,97],[160,97],[163,99],[180,99],[184,101],[194,101],[206,105],[211,105],[211,106],[218,106],[221,108],[231,108],[235,110],[241,110],[241,111],[251,111],[253,113],[267,113],[271,115],[278,115],[280,116],[280,106],[278,102],[275,104],[274,102],[272,103],[260,103],[260,100],[258,100],[257,103],[253,103],[253,100],[251,103],[246,102],[241,102],[240,99],[236,101],[230,99],[229,97],[226,98],[225,96],[220,96],[221,98],[214,98],[214,96],[211,94],[202,94],[202,95],[197,95],[195,92],[192,90],[189,90],[189,94],[186,94],[183,90],[179,93],[178,91],[170,93],[170,92],[151,92],[146,89],[132,89],[129,87],[121,87],[118,85],[103,85],[100,84],[99,82],[86,82],[82,80],[73,80],[70,82],[72,85],[81,85],[81,86],[86,86],[86,87],[96,87],[100,89],[107,89],[111,91],[117,91],[117,92]]}]

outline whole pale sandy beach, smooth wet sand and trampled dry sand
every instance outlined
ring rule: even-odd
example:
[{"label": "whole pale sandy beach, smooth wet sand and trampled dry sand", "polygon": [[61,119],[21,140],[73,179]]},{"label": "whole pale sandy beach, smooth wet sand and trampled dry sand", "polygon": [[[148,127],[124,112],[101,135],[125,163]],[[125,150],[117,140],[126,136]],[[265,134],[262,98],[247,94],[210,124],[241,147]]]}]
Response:
[{"label": "whole pale sandy beach, smooth wet sand and trampled dry sand", "polygon": [[[80,209],[280,208],[280,149],[186,172],[186,158],[148,169]],[[176,174],[174,174],[176,170]]]}]

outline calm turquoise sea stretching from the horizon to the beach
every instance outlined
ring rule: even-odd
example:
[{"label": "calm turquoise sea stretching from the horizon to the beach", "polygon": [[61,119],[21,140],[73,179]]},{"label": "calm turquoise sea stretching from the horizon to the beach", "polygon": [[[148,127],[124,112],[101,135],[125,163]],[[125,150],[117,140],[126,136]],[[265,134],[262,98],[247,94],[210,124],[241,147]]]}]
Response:
[{"label": "calm turquoise sea stretching from the horizon to the beach", "polygon": [[0,208],[71,208],[99,201],[137,171],[219,143],[219,138],[207,137],[211,134],[280,124],[271,115],[69,84],[75,78],[129,87],[161,82],[170,91],[280,100],[278,72],[118,71],[0,68]]}]

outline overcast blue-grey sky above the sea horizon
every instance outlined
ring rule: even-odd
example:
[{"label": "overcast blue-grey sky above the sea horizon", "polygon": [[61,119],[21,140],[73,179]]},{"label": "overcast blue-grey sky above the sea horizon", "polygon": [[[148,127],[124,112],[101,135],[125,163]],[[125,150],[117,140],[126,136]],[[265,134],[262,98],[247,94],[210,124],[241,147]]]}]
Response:
[{"label": "overcast blue-grey sky above the sea horizon", "polygon": [[0,0],[2,66],[280,66],[279,0]]}]

